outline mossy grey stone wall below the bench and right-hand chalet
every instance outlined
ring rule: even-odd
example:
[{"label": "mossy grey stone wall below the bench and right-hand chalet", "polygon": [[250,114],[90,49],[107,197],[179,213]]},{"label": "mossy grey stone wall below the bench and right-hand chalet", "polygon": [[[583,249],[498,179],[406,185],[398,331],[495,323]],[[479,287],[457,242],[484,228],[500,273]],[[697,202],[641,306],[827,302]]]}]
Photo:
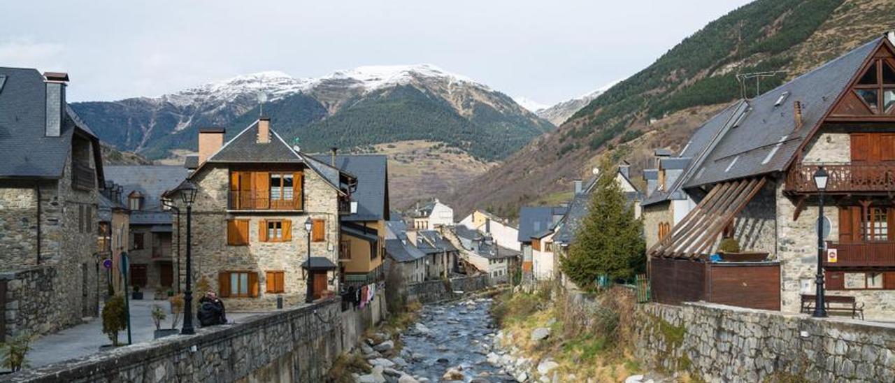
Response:
[{"label": "mossy grey stone wall below the bench and right-hand chalet", "polygon": [[636,307],[636,353],[708,382],[895,380],[895,325],[711,303]]}]

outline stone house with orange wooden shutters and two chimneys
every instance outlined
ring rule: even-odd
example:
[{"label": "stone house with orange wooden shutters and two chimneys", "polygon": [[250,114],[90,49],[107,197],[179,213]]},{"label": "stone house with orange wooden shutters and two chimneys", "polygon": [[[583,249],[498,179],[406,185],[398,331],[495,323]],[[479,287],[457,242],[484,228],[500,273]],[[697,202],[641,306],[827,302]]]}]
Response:
[{"label": "stone house with orange wooden shutters and two chimneys", "polygon": [[[340,217],[352,212],[354,176],[290,147],[267,117],[226,144],[224,134],[200,131],[198,167],[187,178],[197,189],[194,281],[204,280],[236,310],[274,309],[279,297],[294,305],[335,294]],[[166,197],[183,214],[180,190]],[[185,235],[186,219],[180,225]],[[177,233],[174,243],[185,246]]]}]

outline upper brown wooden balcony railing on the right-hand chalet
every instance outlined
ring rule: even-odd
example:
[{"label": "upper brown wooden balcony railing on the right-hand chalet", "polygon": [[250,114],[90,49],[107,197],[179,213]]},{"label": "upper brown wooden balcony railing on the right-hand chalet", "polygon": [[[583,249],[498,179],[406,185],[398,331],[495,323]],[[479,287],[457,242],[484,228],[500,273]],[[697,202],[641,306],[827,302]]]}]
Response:
[{"label": "upper brown wooden balcony railing on the right-hand chalet", "polygon": [[[786,190],[817,192],[814,172],[818,166],[793,166],[787,174]],[[823,165],[823,168],[830,174],[824,192],[895,190],[895,163]]]}]

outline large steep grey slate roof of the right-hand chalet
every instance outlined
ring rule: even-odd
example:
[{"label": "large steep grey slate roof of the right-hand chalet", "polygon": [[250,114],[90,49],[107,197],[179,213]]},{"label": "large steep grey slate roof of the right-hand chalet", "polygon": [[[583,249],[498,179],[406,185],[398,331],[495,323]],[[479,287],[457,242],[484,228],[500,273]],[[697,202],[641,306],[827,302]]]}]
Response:
[{"label": "large steep grey slate roof of the right-hand chalet", "polygon": [[[868,55],[884,44],[873,41],[797,77],[776,89],[748,100],[750,111],[720,139],[706,160],[687,177],[685,187],[719,183],[736,178],[779,172],[814,126],[846,89]],[[775,103],[784,93],[780,106]],[[793,103],[802,104],[801,129],[795,130]]]}]

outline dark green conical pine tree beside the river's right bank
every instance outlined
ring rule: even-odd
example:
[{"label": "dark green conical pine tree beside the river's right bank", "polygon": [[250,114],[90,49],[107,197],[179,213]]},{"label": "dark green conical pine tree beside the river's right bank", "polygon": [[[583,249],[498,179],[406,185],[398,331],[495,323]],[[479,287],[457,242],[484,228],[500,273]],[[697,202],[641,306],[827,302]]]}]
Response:
[{"label": "dark green conical pine tree beside the river's right bank", "polygon": [[600,275],[612,280],[634,277],[644,269],[644,238],[634,206],[616,182],[614,166],[604,163],[591,195],[588,213],[582,218],[566,257],[560,259],[563,273],[581,287],[592,286]]}]

